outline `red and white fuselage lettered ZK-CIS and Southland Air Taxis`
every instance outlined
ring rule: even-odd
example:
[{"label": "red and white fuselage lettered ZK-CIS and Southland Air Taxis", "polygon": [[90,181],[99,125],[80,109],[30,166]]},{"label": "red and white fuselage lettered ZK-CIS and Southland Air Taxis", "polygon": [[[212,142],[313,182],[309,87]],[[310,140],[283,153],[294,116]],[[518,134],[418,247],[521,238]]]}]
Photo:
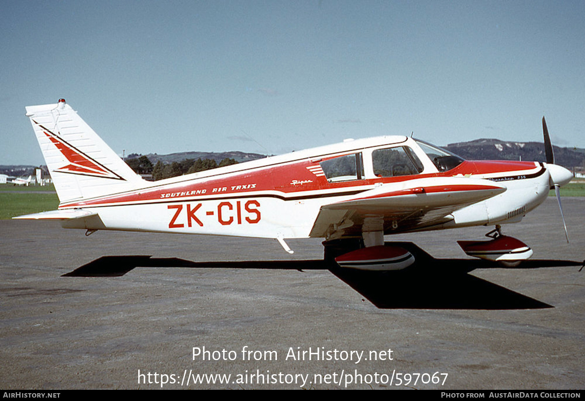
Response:
[{"label": "red and white fuselage lettered ZK-CIS and Southland Air Taxis", "polygon": [[[464,161],[405,136],[348,140],[61,203],[97,212],[64,227],[264,238],[329,236],[314,230],[322,206],[419,178],[470,177],[505,186],[428,224],[400,222],[384,234],[518,222],[548,196],[545,163]],[[447,182],[447,181],[446,181]],[[338,227],[332,227],[338,229]]]}]

